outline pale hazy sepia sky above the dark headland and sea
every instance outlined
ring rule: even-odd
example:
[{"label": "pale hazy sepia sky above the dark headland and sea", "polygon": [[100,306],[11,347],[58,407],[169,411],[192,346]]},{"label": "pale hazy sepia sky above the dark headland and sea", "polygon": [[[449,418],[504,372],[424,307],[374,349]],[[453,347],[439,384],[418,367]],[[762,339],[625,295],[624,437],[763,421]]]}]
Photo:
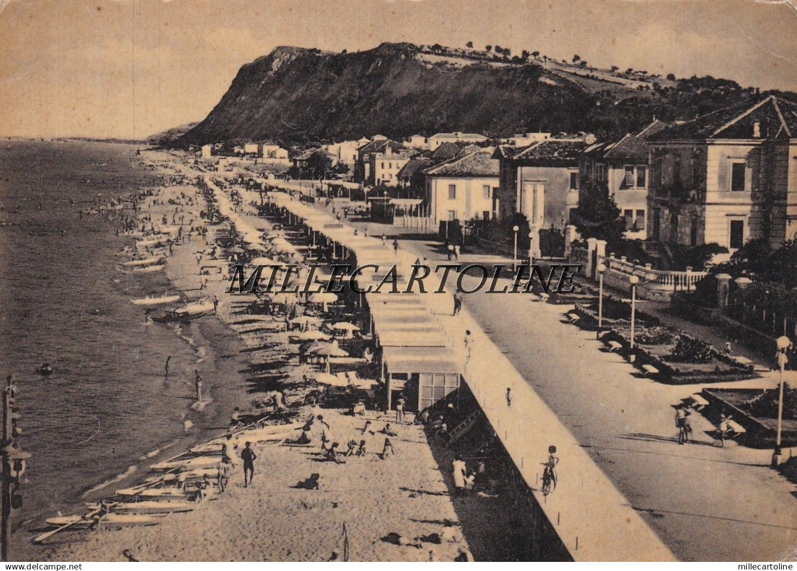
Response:
[{"label": "pale hazy sepia sky above the dark headland and sea", "polygon": [[277,45],[501,45],[797,91],[783,0],[0,0],[0,135],[143,139]]}]

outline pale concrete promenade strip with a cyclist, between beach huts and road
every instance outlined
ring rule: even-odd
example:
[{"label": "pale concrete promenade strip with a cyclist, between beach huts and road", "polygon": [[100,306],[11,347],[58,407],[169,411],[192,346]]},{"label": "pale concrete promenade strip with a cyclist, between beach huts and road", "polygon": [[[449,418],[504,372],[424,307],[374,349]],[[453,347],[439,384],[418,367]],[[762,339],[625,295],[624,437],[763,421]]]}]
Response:
[{"label": "pale concrete promenade strip with a cyclist, between beach huts and road", "polygon": [[[307,215],[308,205],[277,200],[296,215]],[[353,235],[353,227],[347,227]],[[324,232],[323,225],[316,229]],[[368,263],[367,249],[358,259]],[[442,318],[441,323],[465,361],[465,380],[529,487],[535,490],[537,500],[572,557],[576,561],[673,561],[675,557],[669,548],[629,505],[532,385],[524,381],[501,349],[493,344],[482,330],[483,325],[470,318],[467,311],[457,317]],[[484,328],[489,331],[489,324]],[[467,329],[472,332],[472,354],[477,356],[469,362],[464,346],[457,341],[464,341]],[[511,410],[505,401],[507,386],[513,387]],[[548,459],[549,444],[556,444],[558,448],[561,479],[557,489],[546,498],[537,490],[541,463]]]}]

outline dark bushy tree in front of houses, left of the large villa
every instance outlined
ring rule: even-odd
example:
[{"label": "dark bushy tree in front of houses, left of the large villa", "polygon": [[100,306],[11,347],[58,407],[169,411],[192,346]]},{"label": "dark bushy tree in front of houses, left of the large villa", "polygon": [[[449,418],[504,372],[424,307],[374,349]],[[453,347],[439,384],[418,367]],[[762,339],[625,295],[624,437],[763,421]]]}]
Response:
[{"label": "dark bushy tree in front of houses, left of the large villa", "polygon": [[622,242],[626,231],[626,223],[606,183],[586,182],[581,186],[574,222],[582,237],[605,240],[614,248],[612,251]]}]

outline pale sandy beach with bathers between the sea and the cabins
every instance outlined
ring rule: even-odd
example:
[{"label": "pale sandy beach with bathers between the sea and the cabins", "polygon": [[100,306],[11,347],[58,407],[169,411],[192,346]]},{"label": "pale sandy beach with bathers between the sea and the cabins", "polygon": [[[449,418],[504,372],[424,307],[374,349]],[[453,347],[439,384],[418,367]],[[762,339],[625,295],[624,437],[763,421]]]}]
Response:
[{"label": "pale sandy beach with bathers between the sea and the cabins", "polygon": [[[179,165],[174,156],[145,153],[144,157],[164,174],[198,174]],[[175,207],[172,202],[181,205]],[[274,330],[277,326],[260,327],[269,323],[269,318],[253,319],[247,312],[253,296],[226,293],[229,278],[222,258],[226,254],[217,248],[216,256],[210,255],[226,221],[217,225],[202,221],[199,214],[207,215],[208,206],[197,186],[183,182],[157,189],[152,198],[142,202],[138,214],[139,221],[169,222],[169,214],[177,209],[175,217],[184,217],[181,227],[193,228],[196,233],[175,244],[168,257],[167,276],[183,301],[214,296],[219,301],[215,315],[181,325],[152,325],[175,328],[194,349],[196,358],[194,363],[175,364],[178,369],[170,373],[186,393],[186,442],[151,461],[174,456],[190,442],[217,436],[226,428],[226,415],[234,407],[240,409],[242,418],[261,417],[265,411],[258,401],[275,382],[285,394],[289,417],[307,420],[323,413],[344,451],[347,441],[356,439],[366,440],[366,453],[343,457],[341,463],[328,460],[320,449],[320,424],[316,421],[309,432],[312,444],[254,444],[256,475],[249,487],[243,487],[238,460],[230,487],[220,494],[211,486],[208,497],[189,513],[171,514],[151,527],[67,532],[34,549],[43,549],[48,559],[73,561],[126,561],[125,549],[141,561],[453,561],[457,556],[473,557],[470,551],[484,559],[522,557],[505,550],[512,542],[496,542],[518,530],[502,525],[502,510],[495,509],[495,497],[452,497],[450,452],[437,445],[440,449],[433,454],[429,439],[434,436],[422,425],[394,423],[396,436],[391,436],[391,441],[395,455],[382,459],[379,453],[386,436],[379,431],[395,419],[371,410],[364,417],[353,417],[347,409],[304,405],[304,396],[316,387],[306,385],[303,377],[313,377],[318,370],[300,364],[298,346],[289,344],[285,331]],[[258,224],[251,210],[241,215]],[[265,221],[259,222],[267,227]],[[200,227],[206,229],[205,238],[198,233]],[[194,366],[205,386],[201,406],[193,407],[198,410],[187,407]],[[218,427],[207,424],[209,419]],[[371,420],[371,426],[363,432],[365,420]],[[206,429],[197,432],[194,427],[199,423]],[[312,474],[320,476],[318,490],[295,487]],[[114,489],[132,481],[96,491],[92,499],[112,495]],[[483,514],[485,503],[493,504],[492,526],[485,522],[471,525],[467,537],[463,536],[459,514]],[[507,503],[511,509],[512,502]],[[448,529],[444,529],[446,522]],[[447,540],[439,542],[435,534]],[[522,547],[510,547],[509,551],[518,549]]]}]

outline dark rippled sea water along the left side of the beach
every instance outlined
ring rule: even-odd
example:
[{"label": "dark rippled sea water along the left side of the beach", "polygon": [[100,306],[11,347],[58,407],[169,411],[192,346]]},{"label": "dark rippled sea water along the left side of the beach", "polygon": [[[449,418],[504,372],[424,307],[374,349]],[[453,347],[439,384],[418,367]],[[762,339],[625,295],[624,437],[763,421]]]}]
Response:
[{"label": "dark rippled sea water along the left side of the beach", "polygon": [[[111,213],[80,216],[156,178],[128,145],[0,140],[0,380],[14,375],[20,443],[33,454],[18,526],[183,433],[195,355],[130,303],[170,290],[166,277],[116,272],[127,258],[113,254],[133,239],[115,235]],[[44,362],[49,377],[37,373]]]}]

